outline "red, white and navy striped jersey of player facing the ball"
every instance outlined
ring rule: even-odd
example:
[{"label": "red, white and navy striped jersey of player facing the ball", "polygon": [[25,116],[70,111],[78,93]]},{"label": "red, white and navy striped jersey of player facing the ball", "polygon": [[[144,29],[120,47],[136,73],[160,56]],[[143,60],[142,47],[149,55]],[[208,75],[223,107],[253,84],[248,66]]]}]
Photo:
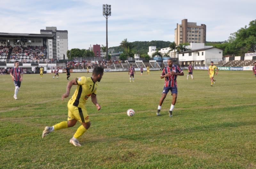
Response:
[{"label": "red, white and navy striped jersey of player facing the ball", "polygon": [[[181,73],[183,72],[183,70],[177,66],[177,65],[172,65],[172,67],[164,67],[163,73],[161,75],[165,75],[165,74],[170,74],[171,72],[175,72],[175,73]],[[166,76],[165,77],[165,81],[164,81],[164,87],[176,87],[177,88],[177,75],[170,75],[170,76]]]}]

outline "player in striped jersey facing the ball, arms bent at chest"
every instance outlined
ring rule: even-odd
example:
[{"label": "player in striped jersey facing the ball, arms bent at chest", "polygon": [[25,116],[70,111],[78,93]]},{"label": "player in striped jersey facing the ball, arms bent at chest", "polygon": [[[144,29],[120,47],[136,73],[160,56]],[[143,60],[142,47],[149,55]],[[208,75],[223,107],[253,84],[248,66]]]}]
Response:
[{"label": "player in striped jersey facing the ball, arms bent at chest", "polygon": [[178,89],[177,89],[177,76],[183,76],[183,70],[178,65],[173,65],[172,59],[167,60],[167,66],[164,67],[163,73],[161,74],[160,78],[165,78],[164,81],[164,89],[162,92],[162,97],[160,98],[159,105],[157,108],[156,115],[159,116],[162,104],[164,102],[164,99],[167,95],[167,93],[171,90],[172,92],[172,104],[171,108],[169,110],[169,116],[172,117],[172,110],[174,108],[174,105],[176,103]]}]

